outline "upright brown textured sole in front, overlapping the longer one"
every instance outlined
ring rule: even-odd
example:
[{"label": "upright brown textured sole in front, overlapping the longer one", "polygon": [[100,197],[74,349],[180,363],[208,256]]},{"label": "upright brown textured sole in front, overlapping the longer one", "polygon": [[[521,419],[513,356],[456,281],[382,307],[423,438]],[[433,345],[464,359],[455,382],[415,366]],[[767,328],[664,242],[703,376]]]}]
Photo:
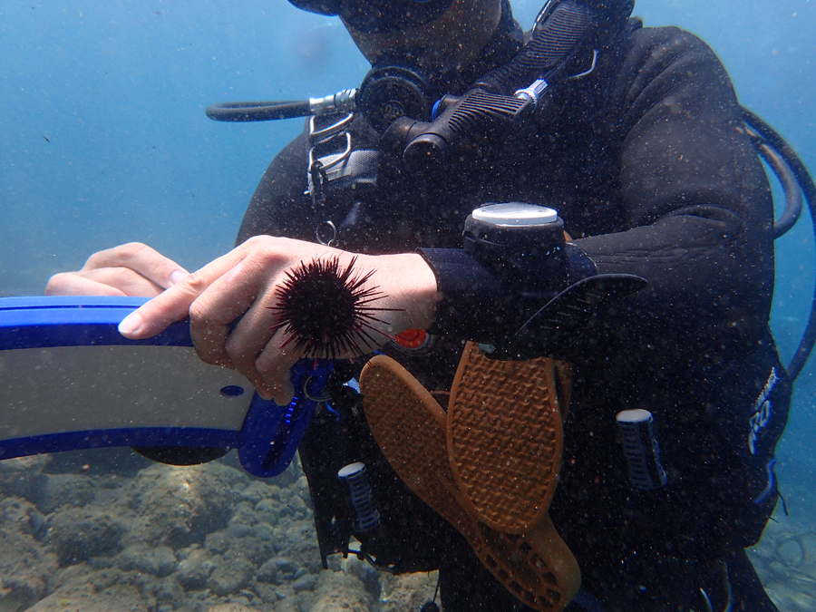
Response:
[{"label": "upright brown textured sole in front, overlapping the longer one", "polygon": [[543,518],[562,438],[551,359],[498,361],[466,345],[448,408],[448,456],[482,522],[523,533]]}]

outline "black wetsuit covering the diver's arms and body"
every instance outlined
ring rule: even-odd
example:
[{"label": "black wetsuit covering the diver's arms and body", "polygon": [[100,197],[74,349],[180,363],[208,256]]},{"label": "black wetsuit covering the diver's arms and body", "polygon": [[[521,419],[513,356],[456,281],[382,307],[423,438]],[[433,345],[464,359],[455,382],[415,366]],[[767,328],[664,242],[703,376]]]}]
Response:
[{"label": "black wetsuit covering the diver's arms and body", "polygon": [[[583,591],[604,610],[703,611],[701,588],[714,610],[726,607],[729,588],[733,610],[773,609],[743,547],[759,538],[776,500],[766,466],[790,388],[768,329],[771,193],[740,116],[729,78],[704,43],[633,21],[594,73],[557,93],[524,152],[497,147],[445,180],[386,164],[368,199],[368,222],[341,242],[374,254],[456,249],[471,209],[542,203],[558,209],[599,273],[648,280],[558,355],[574,364],[575,387],[550,512],[578,559]],[[363,120],[352,133],[376,146]],[[343,219],[347,203],[315,212],[305,189],[301,137],[270,165],[238,242],[262,233],[314,241],[326,215]],[[445,258],[428,255],[438,272]],[[455,285],[446,274],[442,291]],[[456,295],[448,297],[457,305]],[[457,307],[474,325],[491,316],[478,297],[460,296]],[[448,388],[460,339],[442,339],[432,355],[398,358],[428,388]],[[761,397],[763,388],[770,393]],[[764,399],[773,418],[757,416]],[[615,422],[627,408],[654,414],[668,472],[657,491],[627,480]],[[301,456],[324,553],[343,549],[349,529],[336,470],[365,461],[391,521],[388,539],[366,542],[374,556],[397,571],[441,567],[446,609],[519,605],[399,482],[364,422],[337,425],[317,415]]]}]

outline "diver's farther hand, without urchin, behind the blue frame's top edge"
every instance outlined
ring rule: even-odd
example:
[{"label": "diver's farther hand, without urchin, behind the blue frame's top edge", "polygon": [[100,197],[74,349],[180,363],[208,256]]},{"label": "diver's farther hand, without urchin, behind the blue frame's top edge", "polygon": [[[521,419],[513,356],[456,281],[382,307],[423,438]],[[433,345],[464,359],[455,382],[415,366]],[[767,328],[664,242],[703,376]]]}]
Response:
[{"label": "diver's farther hand, without urchin, behind the blue frame's top edge", "polygon": [[46,296],[155,297],[189,272],[140,242],[94,253],[78,272],[48,280]]}]

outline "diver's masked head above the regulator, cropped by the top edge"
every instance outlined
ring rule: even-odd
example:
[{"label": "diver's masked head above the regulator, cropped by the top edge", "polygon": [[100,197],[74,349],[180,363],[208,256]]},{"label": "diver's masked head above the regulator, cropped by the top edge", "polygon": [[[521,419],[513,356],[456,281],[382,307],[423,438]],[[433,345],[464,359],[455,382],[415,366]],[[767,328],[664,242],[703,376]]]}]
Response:
[{"label": "diver's masked head above the regulator, cropped by the top edge", "polygon": [[461,71],[496,33],[501,0],[289,0],[339,15],[372,65],[404,57],[428,73]]}]

